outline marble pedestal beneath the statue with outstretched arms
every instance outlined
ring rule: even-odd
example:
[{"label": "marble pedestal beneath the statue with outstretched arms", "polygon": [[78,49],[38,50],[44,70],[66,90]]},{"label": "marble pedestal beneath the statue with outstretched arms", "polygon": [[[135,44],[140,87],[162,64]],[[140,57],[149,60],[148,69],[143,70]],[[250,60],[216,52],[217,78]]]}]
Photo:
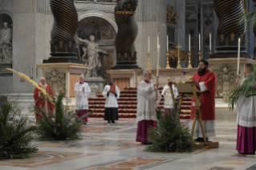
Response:
[{"label": "marble pedestal beneath the statue with outstretched arms", "polygon": [[101,77],[86,77],[84,81],[88,83],[91,88],[91,94],[89,97],[95,97],[96,92],[102,92],[104,90],[105,79]]}]

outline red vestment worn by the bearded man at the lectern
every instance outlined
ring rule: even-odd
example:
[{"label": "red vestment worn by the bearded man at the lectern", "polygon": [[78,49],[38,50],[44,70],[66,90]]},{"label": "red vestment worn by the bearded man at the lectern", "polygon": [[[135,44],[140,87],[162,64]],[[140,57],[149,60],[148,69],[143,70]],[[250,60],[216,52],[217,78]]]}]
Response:
[{"label": "red vestment worn by the bearded man at the lectern", "polygon": [[[217,86],[215,73],[209,70],[207,70],[205,75],[202,76],[199,76],[198,73],[196,73],[193,75],[193,80],[199,83],[204,82],[205,87],[208,89],[208,91],[201,92],[201,119],[215,119],[215,89]],[[200,87],[197,87],[197,89],[200,91]],[[191,111],[195,111],[195,107],[192,105],[193,102],[195,102],[194,98],[192,98]],[[193,114],[194,112],[190,114],[190,119],[193,119]]]}]

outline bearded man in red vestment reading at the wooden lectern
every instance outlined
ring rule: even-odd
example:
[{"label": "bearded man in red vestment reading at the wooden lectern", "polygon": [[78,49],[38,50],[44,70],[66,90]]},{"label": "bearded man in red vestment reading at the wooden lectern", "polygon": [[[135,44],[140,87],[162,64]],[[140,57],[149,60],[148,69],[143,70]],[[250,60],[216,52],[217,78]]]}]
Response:
[{"label": "bearded man in red vestment reading at the wooden lectern", "polygon": [[[202,59],[198,63],[197,73],[193,75],[195,87],[201,91],[200,110],[206,140],[208,140],[208,137],[215,136],[215,89],[217,86],[216,75],[213,71],[208,70],[208,66],[208,62],[205,59]],[[195,99],[193,98],[191,102],[191,111],[195,111]],[[190,129],[193,125],[193,114],[194,112],[190,114]],[[203,141],[198,119],[193,136],[197,137],[195,141]]]}]

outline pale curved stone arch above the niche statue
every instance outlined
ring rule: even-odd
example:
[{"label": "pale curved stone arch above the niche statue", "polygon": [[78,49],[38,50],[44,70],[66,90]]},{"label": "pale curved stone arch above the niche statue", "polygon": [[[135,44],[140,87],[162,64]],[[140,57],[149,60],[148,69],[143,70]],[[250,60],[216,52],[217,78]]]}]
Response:
[{"label": "pale curved stone arch above the niche statue", "polygon": [[83,11],[83,12],[79,13],[78,15],[79,15],[78,16],[79,22],[81,20],[83,20],[83,18],[88,18],[88,17],[103,18],[104,20],[108,21],[113,26],[114,30],[117,33],[118,27],[116,25],[116,20],[115,20],[114,15],[111,15],[111,14],[108,14],[108,13],[105,13],[105,12],[99,11],[99,10],[87,10],[87,11]]}]

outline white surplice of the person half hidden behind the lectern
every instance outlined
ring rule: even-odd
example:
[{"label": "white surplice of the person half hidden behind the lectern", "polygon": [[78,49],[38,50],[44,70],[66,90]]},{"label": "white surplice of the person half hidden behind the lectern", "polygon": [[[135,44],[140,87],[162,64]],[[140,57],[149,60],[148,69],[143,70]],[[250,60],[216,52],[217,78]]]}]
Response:
[{"label": "white surplice of the person half hidden behind the lectern", "polygon": [[[174,98],[176,99],[177,96],[179,95],[178,91],[177,91],[177,87],[174,86],[173,84],[173,95]],[[169,85],[165,85],[165,87],[163,88],[163,91],[161,93],[161,95],[165,96],[165,108],[174,108],[173,106],[173,97],[172,94],[170,94],[170,90],[169,90]]]}]

